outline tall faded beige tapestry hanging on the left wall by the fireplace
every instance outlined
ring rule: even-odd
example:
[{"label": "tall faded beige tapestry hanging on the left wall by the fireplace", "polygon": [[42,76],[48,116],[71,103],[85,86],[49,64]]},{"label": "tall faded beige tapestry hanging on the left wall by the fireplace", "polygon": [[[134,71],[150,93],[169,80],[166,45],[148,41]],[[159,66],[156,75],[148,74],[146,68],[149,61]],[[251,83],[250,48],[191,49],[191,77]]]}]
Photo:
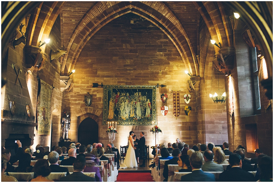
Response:
[{"label": "tall faded beige tapestry hanging on the left wall by the fireplace", "polygon": [[[37,135],[50,135],[51,128],[51,92],[53,87],[40,80],[40,92],[37,97]],[[38,89],[39,91],[39,89]]]}]

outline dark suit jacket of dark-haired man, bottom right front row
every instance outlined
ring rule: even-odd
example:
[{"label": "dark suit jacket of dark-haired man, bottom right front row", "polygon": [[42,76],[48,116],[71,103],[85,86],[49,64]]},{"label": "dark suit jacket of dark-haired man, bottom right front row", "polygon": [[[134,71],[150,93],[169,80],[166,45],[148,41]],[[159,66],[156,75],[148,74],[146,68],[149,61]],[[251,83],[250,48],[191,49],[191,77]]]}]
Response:
[{"label": "dark suit jacket of dark-haired man, bottom right front row", "polygon": [[219,175],[220,182],[253,182],[254,176],[250,172],[242,170],[240,167],[230,168]]}]

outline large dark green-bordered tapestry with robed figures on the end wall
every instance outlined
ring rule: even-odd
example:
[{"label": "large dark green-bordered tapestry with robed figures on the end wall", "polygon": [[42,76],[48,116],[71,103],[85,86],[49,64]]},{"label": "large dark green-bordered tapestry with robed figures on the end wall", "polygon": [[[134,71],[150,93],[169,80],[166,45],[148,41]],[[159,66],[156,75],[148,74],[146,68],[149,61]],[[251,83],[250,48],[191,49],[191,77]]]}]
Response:
[{"label": "large dark green-bordered tapestry with robed figures on the end wall", "polygon": [[103,125],[154,125],[156,86],[104,85]]}]

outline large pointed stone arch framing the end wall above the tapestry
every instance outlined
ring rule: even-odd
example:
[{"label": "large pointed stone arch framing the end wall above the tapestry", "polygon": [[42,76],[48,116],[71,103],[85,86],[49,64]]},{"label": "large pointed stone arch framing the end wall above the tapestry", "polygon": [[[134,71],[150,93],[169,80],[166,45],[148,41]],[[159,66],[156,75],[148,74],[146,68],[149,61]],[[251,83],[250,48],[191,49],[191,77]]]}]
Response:
[{"label": "large pointed stone arch framing the end wall above the tapestry", "polygon": [[[153,3],[155,9],[141,2],[121,2],[113,5],[109,9],[105,8],[105,10],[100,13],[97,13],[98,11],[96,10],[98,10],[98,7],[102,7],[100,6],[101,2],[97,3],[95,7],[83,16],[82,21],[79,22],[76,30],[72,33],[73,37],[69,39],[69,43],[67,44],[68,54],[65,55],[61,66],[62,74],[67,74],[68,71],[73,69],[85,44],[101,27],[113,19],[132,12],[149,20],[163,30],[181,54],[186,67],[189,67],[193,75],[199,75],[196,53],[193,51],[192,43],[187,37],[187,32],[184,31],[184,27],[171,11],[163,11],[163,9],[167,10],[168,8],[165,7],[162,2]],[[161,4],[159,5],[159,3]],[[157,11],[157,9],[161,11]],[[96,14],[93,12],[96,12]]]}]

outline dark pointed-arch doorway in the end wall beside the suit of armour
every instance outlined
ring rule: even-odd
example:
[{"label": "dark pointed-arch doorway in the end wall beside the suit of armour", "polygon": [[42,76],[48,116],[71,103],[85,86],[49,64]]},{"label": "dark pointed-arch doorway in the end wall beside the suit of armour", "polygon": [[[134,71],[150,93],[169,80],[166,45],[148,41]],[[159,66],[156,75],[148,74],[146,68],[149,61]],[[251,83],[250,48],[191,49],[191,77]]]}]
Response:
[{"label": "dark pointed-arch doorway in the end wall beside the suit of armour", "polygon": [[98,142],[98,124],[91,118],[84,119],[78,128],[78,142],[87,146]]}]

